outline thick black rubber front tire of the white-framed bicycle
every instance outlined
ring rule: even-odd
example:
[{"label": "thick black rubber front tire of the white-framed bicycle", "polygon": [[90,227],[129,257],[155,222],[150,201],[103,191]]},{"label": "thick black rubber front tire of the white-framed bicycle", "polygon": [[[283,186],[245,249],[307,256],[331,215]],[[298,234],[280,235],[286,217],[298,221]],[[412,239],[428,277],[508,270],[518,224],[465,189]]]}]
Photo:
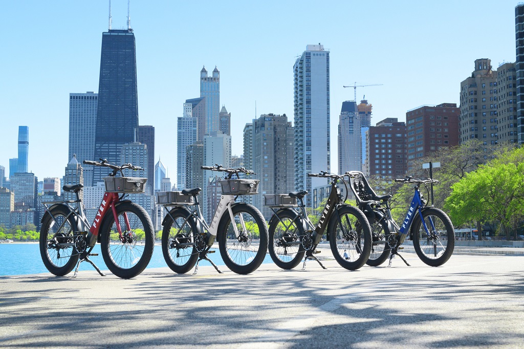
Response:
[{"label": "thick black rubber front tire of the white-framed bicycle", "polygon": [[[219,250],[220,255],[222,256],[222,260],[224,261],[224,264],[230,268],[233,272],[236,272],[236,274],[249,274],[253,271],[255,271],[264,261],[264,258],[266,257],[267,253],[267,245],[268,245],[268,229],[266,221],[264,220],[264,216],[258,211],[255,206],[246,204],[246,203],[238,203],[233,205],[231,208],[233,215],[236,216],[238,213],[246,213],[253,217],[255,223],[258,226],[258,232],[260,235],[260,243],[258,245],[258,250],[255,253],[255,256],[249,263],[241,265],[235,263],[235,261],[231,258],[230,254],[228,253],[227,248],[227,233],[228,233],[228,227],[231,223],[231,217],[226,211],[224,215],[222,216],[222,219],[219,223],[219,229],[217,232],[217,240],[219,242]],[[232,232],[230,232],[232,233]]]}]

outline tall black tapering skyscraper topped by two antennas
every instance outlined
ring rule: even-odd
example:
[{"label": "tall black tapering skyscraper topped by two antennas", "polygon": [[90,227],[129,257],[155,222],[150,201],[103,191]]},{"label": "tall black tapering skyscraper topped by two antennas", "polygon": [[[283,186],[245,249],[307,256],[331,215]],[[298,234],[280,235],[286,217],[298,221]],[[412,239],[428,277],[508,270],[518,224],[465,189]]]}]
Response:
[{"label": "tall black tapering skyscraper topped by two antennas", "polygon": [[[135,35],[133,29],[110,29],[102,34],[94,159],[118,163],[122,145],[136,141],[137,132]],[[93,172],[94,185],[109,170],[95,167]]]}]

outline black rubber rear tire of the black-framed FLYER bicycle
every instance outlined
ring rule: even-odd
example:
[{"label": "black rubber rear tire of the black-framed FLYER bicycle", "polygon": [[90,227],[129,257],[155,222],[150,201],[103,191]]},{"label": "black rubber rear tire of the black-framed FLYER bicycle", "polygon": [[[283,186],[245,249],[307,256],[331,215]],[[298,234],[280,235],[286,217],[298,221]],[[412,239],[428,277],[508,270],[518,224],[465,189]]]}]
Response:
[{"label": "black rubber rear tire of the black-framed FLYER bicycle", "polygon": [[[291,209],[280,210],[276,212],[275,215],[276,216],[270,221],[270,224],[269,224],[269,245],[268,245],[269,255],[271,256],[271,259],[275,262],[275,264],[278,267],[282,269],[293,269],[294,267],[299,265],[302,258],[304,258],[304,254],[305,254],[304,246],[302,244],[295,245],[298,248],[295,256],[291,258],[291,260],[289,261],[284,261],[278,257],[279,254],[277,253],[277,250],[281,248],[281,246],[276,246],[275,232],[279,224],[280,225],[282,224],[280,220],[282,220],[283,222],[289,222],[289,223],[295,222],[297,226],[296,234],[298,236],[298,241],[300,241],[302,236],[304,236],[304,228],[302,226],[302,219],[299,217],[297,212]],[[289,221],[286,221],[286,219],[288,219]]]}]

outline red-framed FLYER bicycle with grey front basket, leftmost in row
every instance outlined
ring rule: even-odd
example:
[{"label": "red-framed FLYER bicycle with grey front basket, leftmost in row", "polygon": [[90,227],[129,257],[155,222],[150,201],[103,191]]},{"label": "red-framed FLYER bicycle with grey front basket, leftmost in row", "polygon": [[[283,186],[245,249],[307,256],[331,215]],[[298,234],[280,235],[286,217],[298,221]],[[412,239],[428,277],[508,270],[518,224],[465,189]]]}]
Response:
[{"label": "red-framed FLYER bicycle with grey front basket, leftmost in row", "polygon": [[[155,233],[147,212],[138,204],[123,199],[130,193],[143,193],[147,178],[124,177],[124,169],[143,170],[130,163],[117,166],[103,159],[100,162],[84,160],[84,163],[113,170],[104,178],[106,191],[100,208],[93,224],[89,224],[79,198],[82,184],[62,187],[64,191],[75,193],[77,200],[43,202],[46,209],[40,229],[43,264],[57,276],[69,274],[76,265],[75,277],[80,263],[87,261],[104,276],[89,259],[97,255],[91,252],[99,242],[107,268],[118,277],[133,278],[151,259]],[[118,172],[122,177],[116,177]]]}]

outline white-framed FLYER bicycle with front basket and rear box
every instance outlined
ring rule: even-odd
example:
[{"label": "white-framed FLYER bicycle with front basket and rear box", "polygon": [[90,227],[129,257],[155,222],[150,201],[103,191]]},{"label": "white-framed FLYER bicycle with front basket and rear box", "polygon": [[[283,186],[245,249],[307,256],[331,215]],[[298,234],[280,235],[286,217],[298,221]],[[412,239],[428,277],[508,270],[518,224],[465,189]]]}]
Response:
[{"label": "white-framed FLYER bicycle with front basket and rear box", "polygon": [[[257,194],[259,180],[241,179],[238,173],[254,174],[245,168],[202,166],[203,170],[226,172],[221,181],[222,195],[211,225],[205,222],[198,195],[202,189],[159,192],[158,203],[168,209],[162,225],[162,253],[171,270],[184,274],[207,257],[216,241],[225,265],[237,274],[249,274],[264,261],[268,246],[268,229],[260,211],[245,202],[236,202],[241,195]],[[236,174],[237,179],[232,179]]]}]

